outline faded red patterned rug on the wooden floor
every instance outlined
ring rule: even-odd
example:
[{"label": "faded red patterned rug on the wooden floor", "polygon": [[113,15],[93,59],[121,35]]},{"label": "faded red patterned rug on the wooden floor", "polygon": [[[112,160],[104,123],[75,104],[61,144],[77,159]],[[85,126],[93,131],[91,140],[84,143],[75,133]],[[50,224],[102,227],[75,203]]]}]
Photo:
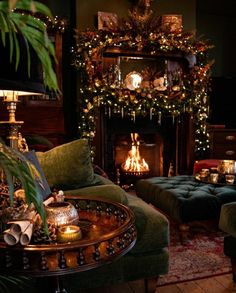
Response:
[{"label": "faded red patterned rug on the wooden floor", "polygon": [[231,272],[230,259],[224,255],[224,233],[217,226],[193,223],[181,238],[176,224],[170,224],[169,273],[157,286],[196,280]]}]

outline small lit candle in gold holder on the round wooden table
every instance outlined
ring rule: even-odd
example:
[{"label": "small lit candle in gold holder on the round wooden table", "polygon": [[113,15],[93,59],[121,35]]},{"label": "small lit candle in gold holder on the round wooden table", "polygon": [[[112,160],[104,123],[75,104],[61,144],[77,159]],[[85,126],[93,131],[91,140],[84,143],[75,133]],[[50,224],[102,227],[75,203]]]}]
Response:
[{"label": "small lit candle in gold holder on the round wooden table", "polygon": [[80,227],[75,225],[61,226],[58,229],[57,239],[59,242],[72,242],[82,237]]}]

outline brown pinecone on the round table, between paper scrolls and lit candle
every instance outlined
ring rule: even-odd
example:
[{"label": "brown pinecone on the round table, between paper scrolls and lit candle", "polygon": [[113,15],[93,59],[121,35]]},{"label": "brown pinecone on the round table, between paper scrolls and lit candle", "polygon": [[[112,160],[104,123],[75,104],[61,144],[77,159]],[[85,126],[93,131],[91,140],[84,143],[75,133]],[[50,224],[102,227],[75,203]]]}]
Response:
[{"label": "brown pinecone on the round table, between paper scrolls and lit candle", "polygon": [[54,224],[48,224],[48,235],[45,233],[41,224],[35,224],[32,235],[33,243],[51,243],[57,240],[57,227]]}]

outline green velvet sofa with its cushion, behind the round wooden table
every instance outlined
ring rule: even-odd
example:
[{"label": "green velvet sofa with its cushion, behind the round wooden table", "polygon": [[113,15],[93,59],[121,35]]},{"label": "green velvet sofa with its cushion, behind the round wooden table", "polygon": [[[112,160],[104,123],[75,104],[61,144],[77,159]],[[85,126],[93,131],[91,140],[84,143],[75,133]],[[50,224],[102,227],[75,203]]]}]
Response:
[{"label": "green velvet sofa with its cushion, behind the round wooden table", "polygon": [[[86,139],[74,140],[46,152],[36,152],[36,155],[51,188],[69,195],[89,195],[119,202],[135,214],[137,241],[132,250],[111,264],[64,276],[68,292],[138,279],[147,281],[146,289],[149,290],[153,282],[148,280],[153,281],[153,278],[168,272],[168,220],[142,199],[95,174]],[[45,282],[38,279],[43,286]]]}]

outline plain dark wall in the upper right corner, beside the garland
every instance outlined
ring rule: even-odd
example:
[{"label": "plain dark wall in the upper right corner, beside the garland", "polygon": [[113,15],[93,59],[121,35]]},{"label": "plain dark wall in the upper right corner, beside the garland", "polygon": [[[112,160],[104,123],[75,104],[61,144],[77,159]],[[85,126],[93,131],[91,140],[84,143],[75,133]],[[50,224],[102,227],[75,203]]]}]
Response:
[{"label": "plain dark wall in the upper right corner, beside the garland", "polygon": [[197,32],[212,41],[213,76],[236,77],[235,0],[197,0]]}]

